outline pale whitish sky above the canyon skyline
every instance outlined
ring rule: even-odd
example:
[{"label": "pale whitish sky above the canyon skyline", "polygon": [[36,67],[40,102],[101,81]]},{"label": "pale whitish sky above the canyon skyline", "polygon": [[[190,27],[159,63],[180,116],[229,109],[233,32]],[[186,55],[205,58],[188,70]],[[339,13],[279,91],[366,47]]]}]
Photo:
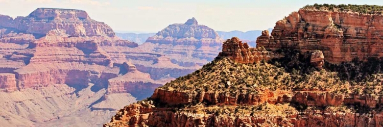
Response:
[{"label": "pale whitish sky above the canyon skyline", "polygon": [[246,32],[273,28],[284,16],[315,3],[383,6],[381,0],[0,0],[0,14],[17,17],[36,8],[79,9],[114,31],[135,33],[158,32],[195,17],[199,24],[216,31]]}]

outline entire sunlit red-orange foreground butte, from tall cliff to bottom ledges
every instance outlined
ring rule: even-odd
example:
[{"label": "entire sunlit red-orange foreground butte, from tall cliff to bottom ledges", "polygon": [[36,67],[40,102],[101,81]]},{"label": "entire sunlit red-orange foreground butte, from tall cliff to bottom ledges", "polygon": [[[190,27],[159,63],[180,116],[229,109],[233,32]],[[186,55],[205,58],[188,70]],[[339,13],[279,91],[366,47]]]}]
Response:
[{"label": "entire sunlit red-orange foreground butte, from tall cliff to bottom ledges", "polygon": [[383,126],[381,60],[371,60],[382,57],[382,18],[302,8],[255,48],[226,40],[211,63],[104,126]]}]

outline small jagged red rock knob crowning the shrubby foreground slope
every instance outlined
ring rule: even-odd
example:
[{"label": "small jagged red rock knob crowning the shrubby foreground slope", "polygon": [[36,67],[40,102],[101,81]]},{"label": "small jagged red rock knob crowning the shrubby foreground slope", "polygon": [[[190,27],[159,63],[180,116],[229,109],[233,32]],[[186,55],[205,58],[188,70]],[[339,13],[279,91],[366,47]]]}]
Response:
[{"label": "small jagged red rock knob crowning the shrubby foreground slope", "polygon": [[[263,32],[262,32],[263,34]],[[283,54],[268,52],[264,48],[249,48],[247,43],[242,43],[240,39],[233,37],[227,39],[219,57],[228,57],[239,63],[257,63],[261,60],[271,60],[273,58],[284,57]]]}]

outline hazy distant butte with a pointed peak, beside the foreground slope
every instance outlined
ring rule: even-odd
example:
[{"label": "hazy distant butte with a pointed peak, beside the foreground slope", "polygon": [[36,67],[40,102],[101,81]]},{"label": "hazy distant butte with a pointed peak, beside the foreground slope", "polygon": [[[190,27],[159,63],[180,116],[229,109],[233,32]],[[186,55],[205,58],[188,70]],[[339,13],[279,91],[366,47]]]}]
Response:
[{"label": "hazy distant butte with a pointed peak, beside the foreground slope", "polygon": [[113,63],[130,60],[138,71],[149,73],[153,80],[163,80],[201,68],[217,57],[223,41],[214,30],[192,18],[183,24],[171,24],[135,48],[108,45],[101,48]]}]

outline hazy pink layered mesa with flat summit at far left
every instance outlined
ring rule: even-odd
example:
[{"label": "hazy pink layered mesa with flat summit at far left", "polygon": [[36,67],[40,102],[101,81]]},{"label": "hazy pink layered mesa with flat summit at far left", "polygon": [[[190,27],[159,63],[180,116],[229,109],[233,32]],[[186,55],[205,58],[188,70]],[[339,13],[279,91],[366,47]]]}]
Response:
[{"label": "hazy pink layered mesa with flat summit at far left", "polygon": [[6,59],[0,66],[14,73],[17,89],[96,83],[112,66],[101,46],[137,46],[82,10],[38,8],[26,17],[0,20],[0,54]]}]

